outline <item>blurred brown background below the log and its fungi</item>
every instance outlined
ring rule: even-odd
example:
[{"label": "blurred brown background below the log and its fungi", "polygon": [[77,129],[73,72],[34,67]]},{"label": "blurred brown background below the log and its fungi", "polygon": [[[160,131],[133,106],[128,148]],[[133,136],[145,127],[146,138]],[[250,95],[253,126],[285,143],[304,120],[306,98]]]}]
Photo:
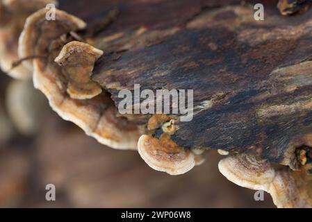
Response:
[{"label": "blurred brown background below the log and its fungi", "polygon": [[[0,76],[0,207],[274,207],[224,178],[215,151],[182,176],[154,171],[137,152],[103,146],[60,119],[27,84]],[[49,183],[54,202],[45,200]]]}]

